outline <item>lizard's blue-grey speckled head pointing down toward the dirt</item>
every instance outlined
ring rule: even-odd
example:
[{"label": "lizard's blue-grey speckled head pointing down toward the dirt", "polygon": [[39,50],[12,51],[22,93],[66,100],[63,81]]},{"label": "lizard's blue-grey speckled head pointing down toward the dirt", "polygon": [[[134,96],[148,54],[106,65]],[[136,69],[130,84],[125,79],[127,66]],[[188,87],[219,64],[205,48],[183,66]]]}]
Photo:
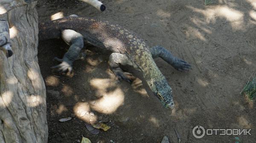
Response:
[{"label": "lizard's blue-grey speckled head pointing down toward the dirt", "polygon": [[152,90],[157,98],[161,101],[165,108],[174,108],[174,101],[172,98],[172,88],[168,84],[167,80],[164,79],[160,82],[155,82],[152,86]]}]

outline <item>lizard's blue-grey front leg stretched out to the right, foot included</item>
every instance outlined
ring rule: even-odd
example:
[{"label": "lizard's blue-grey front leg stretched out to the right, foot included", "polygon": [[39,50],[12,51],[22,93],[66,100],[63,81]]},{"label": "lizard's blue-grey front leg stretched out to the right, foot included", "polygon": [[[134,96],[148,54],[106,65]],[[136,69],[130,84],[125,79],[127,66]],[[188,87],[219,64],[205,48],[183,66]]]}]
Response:
[{"label": "lizard's blue-grey front leg stretched out to the right, foot included", "polygon": [[172,65],[176,70],[189,71],[191,69],[191,65],[189,63],[173,56],[169,50],[166,50],[166,48],[162,46],[154,46],[149,50],[154,59],[160,57],[168,64]]}]

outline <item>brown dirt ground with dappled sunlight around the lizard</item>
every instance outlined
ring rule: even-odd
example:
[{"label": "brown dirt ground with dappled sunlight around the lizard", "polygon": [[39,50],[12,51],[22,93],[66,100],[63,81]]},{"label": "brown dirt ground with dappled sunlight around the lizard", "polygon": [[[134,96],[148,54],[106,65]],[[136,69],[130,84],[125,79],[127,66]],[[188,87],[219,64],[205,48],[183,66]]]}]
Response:
[{"label": "brown dirt ground with dappled sunlight around the lizard", "polygon": [[[38,59],[47,86],[49,143],[76,143],[82,135],[92,143],[160,143],[163,136],[178,143],[235,143],[235,137],[205,136],[196,139],[192,128],[252,129],[238,136],[239,143],[255,143],[256,105],[239,95],[256,71],[256,1],[218,0],[102,0],[106,11],[75,0],[38,1],[39,21],[53,14],[78,14],[108,20],[136,31],[149,46],[162,45],[192,64],[178,72],[156,59],[174,93],[175,109],[164,109],[148,89],[143,76],[130,70],[133,84],[118,82],[109,69],[109,53],[85,45],[87,57],[74,63],[70,76],[52,73],[68,46],[60,39],[39,42]],[[59,13],[60,14],[60,13]],[[57,14],[58,15],[58,14]],[[55,15],[56,16],[56,15]],[[141,81],[141,80],[143,81]],[[80,117],[81,111],[95,115]],[[76,118],[64,123],[60,118]],[[103,121],[111,129],[92,135],[85,122]]]}]

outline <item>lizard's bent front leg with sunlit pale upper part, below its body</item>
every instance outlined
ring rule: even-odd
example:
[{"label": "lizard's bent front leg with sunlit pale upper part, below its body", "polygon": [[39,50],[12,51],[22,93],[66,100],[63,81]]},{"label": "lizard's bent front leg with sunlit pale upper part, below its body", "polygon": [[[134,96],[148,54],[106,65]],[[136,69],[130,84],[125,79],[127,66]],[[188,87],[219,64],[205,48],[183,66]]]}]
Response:
[{"label": "lizard's bent front leg with sunlit pale upper part, below its body", "polygon": [[128,83],[132,83],[131,73],[124,72],[120,65],[130,65],[133,66],[133,62],[128,58],[128,56],[121,53],[112,53],[109,57],[110,67],[113,73],[119,80],[125,80]]}]

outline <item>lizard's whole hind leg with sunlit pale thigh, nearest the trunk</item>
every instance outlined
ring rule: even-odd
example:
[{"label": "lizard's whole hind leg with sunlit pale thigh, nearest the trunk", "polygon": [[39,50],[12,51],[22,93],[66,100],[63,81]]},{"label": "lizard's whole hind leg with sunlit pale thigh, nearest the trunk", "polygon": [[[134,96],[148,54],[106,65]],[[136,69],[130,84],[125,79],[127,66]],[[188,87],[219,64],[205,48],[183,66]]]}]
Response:
[{"label": "lizard's whole hind leg with sunlit pale thigh, nearest the trunk", "polygon": [[70,45],[70,48],[68,49],[67,53],[64,54],[62,59],[58,59],[55,57],[54,59],[61,62],[61,64],[58,64],[51,68],[56,68],[58,72],[65,72],[68,70],[68,72],[72,71],[72,64],[79,56],[79,53],[81,49],[84,47],[84,39],[83,36],[73,30],[67,29],[63,30],[61,32],[61,38]]}]

